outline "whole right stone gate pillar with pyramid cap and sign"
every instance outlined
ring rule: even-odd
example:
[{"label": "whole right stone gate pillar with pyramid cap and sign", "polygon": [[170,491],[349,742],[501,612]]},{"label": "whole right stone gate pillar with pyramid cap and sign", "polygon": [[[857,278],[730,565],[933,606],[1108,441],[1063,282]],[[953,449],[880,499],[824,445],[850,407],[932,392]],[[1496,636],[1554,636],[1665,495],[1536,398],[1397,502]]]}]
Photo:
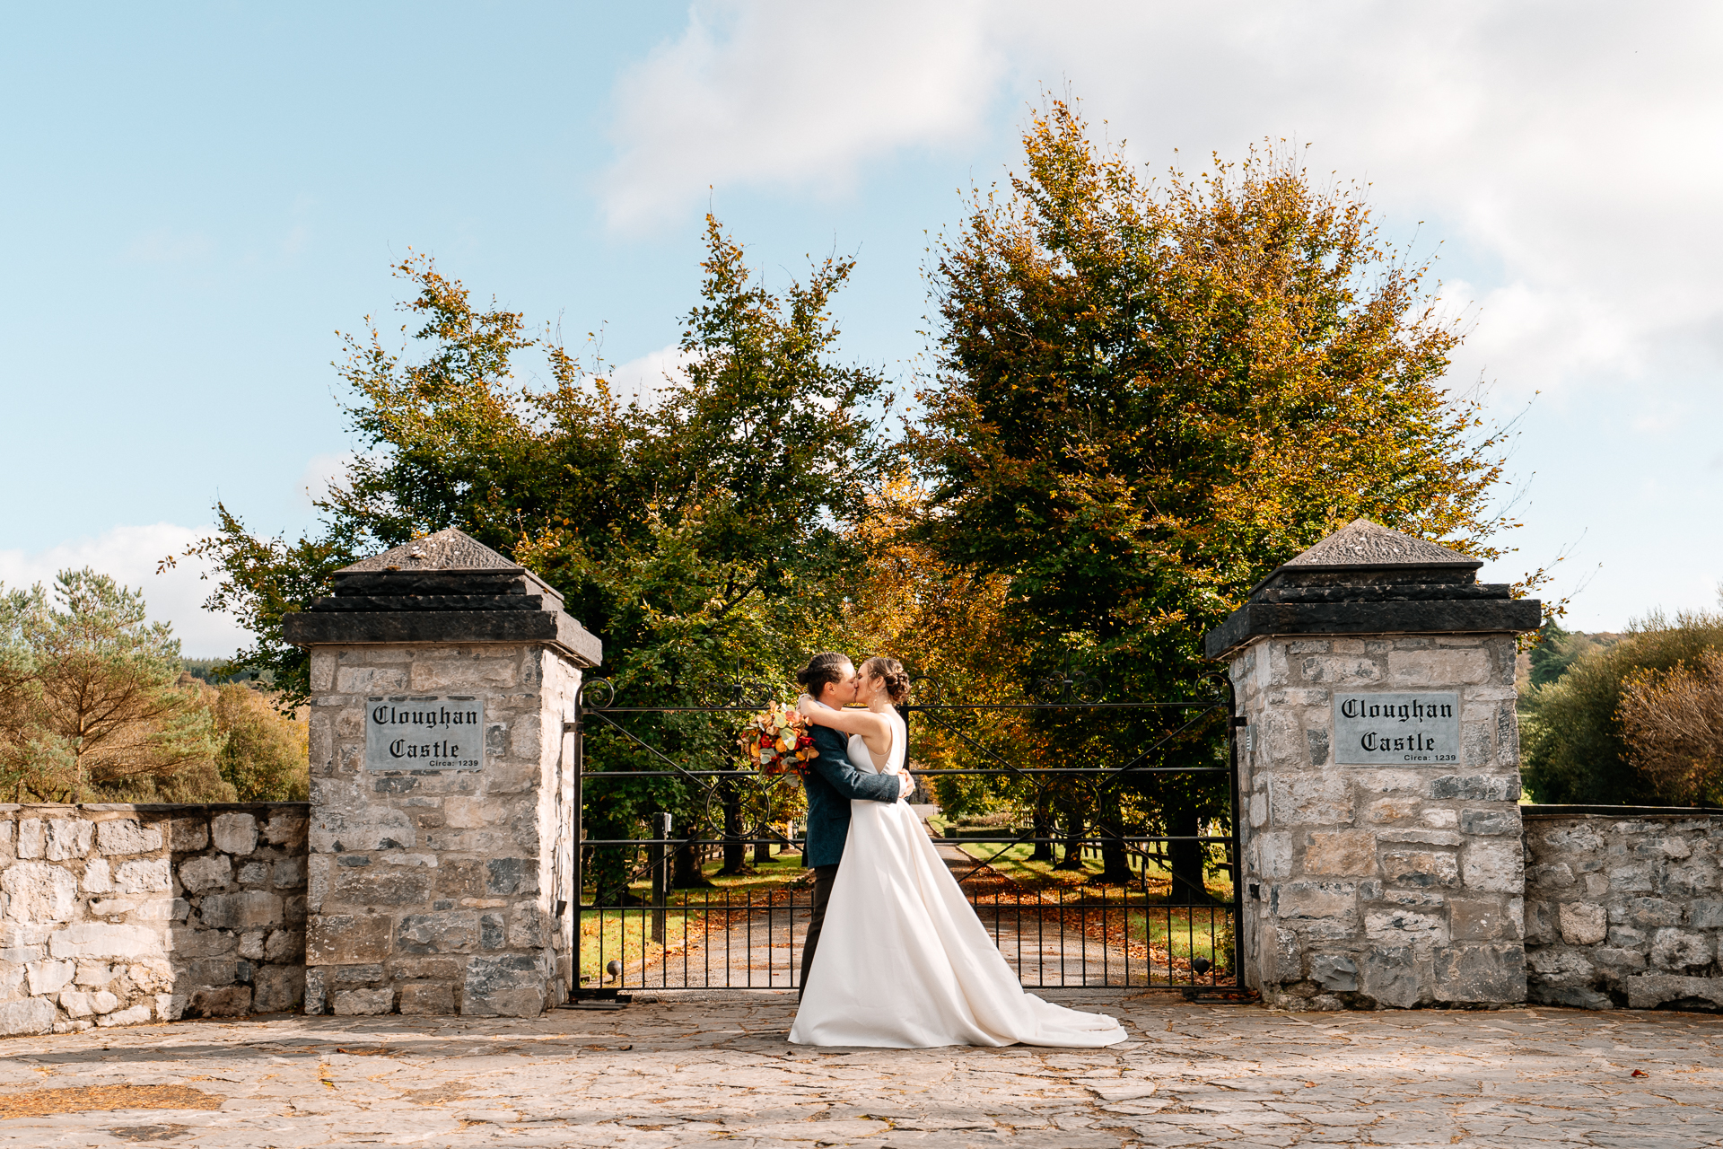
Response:
[{"label": "whole right stone gate pillar with pyramid cap and sign", "polygon": [[1359,519],[1208,634],[1239,715],[1244,982],[1296,1009],[1525,1001],[1516,636],[1540,605]]}]

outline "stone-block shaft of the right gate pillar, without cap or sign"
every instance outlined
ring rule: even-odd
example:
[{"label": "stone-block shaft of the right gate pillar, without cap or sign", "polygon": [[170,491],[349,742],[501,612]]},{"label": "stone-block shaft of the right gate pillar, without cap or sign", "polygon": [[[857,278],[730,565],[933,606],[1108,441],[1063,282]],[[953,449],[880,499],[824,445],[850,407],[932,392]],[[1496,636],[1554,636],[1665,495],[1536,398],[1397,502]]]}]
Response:
[{"label": "stone-block shaft of the right gate pillar, without cap or sign", "polygon": [[[1515,636],[1260,637],[1230,668],[1246,984],[1296,1009],[1523,1001]],[[1458,765],[1335,765],[1337,691],[1435,687]]]}]

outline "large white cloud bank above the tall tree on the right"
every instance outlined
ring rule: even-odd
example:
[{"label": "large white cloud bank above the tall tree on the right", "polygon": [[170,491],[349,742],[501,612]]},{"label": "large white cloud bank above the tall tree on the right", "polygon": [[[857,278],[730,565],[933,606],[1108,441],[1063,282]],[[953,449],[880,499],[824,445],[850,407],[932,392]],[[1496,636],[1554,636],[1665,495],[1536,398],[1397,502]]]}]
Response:
[{"label": "large white cloud bank above the tall tree on the right", "polygon": [[906,148],[967,155],[1001,79],[1022,100],[1068,81],[1156,171],[1313,141],[1390,222],[1458,241],[1489,274],[1452,269],[1480,293],[1456,377],[1516,398],[1723,353],[1720,48],[1723,9],[1695,2],[696,3],[615,86],[606,208],[639,226],[708,184],[834,189]]}]

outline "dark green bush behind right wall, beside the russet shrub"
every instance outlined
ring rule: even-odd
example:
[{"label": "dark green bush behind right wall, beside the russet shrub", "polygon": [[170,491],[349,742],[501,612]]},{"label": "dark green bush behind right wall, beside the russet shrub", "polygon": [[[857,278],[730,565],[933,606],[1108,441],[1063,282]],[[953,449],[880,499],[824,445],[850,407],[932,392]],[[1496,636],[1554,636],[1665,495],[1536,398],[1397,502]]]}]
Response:
[{"label": "dark green bush behind right wall, beside the russet shrub", "polygon": [[[1659,684],[1668,687],[1676,667],[1697,674],[1714,649],[1723,649],[1723,613],[1682,612],[1668,618],[1652,612],[1628,625],[1614,646],[1587,651],[1561,679],[1533,687],[1520,722],[1527,789],[1540,803],[1597,806],[1670,806],[1702,796],[1676,786],[1676,773],[1639,770],[1621,715],[1630,686],[1637,684],[1644,706]],[[1635,720],[1645,718],[1640,710]],[[1651,725],[1642,730],[1649,734]]]}]

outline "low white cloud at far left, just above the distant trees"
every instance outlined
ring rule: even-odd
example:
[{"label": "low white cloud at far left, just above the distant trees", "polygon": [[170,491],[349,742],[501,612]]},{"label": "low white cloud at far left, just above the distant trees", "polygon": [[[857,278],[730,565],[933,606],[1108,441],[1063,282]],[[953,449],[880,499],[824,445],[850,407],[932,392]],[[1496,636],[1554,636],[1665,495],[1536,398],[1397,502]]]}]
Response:
[{"label": "low white cloud at far left, just above the distant trees", "polygon": [[224,658],[250,637],[227,615],[203,610],[212,584],[200,575],[208,563],[181,558],[177,567],[155,574],[157,563],[203,537],[210,527],[181,527],[159,522],[146,527],[114,527],[93,539],[62,543],[45,551],[0,550],[0,582],[7,587],[53,584],[60,570],[93,567],[131,589],[143,591],[152,622],[169,622],[188,658]]}]

